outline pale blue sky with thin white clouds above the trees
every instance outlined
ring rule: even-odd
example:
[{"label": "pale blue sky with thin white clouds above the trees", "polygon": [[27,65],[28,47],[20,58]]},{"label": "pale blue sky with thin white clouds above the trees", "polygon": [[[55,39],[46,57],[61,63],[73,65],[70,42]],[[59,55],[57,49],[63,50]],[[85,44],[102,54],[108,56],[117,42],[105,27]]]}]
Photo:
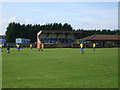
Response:
[{"label": "pale blue sky with thin white clouds above the trees", "polygon": [[[1,3],[0,3],[1,4]],[[1,32],[10,22],[69,23],[73,29],[118,29],[118,2],[2,2]]]}]

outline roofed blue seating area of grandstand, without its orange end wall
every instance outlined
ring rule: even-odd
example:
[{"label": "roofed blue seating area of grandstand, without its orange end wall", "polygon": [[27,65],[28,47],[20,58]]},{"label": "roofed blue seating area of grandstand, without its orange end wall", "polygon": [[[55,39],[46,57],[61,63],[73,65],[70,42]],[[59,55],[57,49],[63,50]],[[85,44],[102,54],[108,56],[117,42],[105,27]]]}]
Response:
[{"label": "roofed blue seating area of grandstand, without its orange end wall", "polygon": [[39,36],[39,39],[44,43],[65,43],[73,44],[76,40],[76,34],[80,34],[81,31],[58,31],[58,30],[43,30]]}]

